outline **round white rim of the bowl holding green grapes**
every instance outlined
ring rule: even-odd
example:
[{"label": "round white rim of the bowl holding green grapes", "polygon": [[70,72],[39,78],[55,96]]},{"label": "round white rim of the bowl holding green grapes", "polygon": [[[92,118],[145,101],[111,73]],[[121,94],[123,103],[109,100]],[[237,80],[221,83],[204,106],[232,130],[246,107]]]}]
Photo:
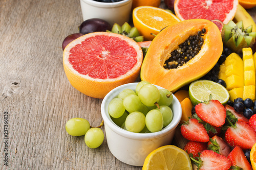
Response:
[{"label": "round white rim of the bowl holding green grapes", "polygon": [[[182,110],[181,110],[180,102],[174,94],[173,94],[173,101],[175,101],[175,103],[177,103],[177,106],[178,106],[178,108],[176,109],[177,113],[175,112],[172,122],[169,125],[167,125],[165,128],[163,128],[161,131],[151,132],[151,133],[135,133],[135,132],[130,132],[130,131],[124,130],[113,122],[113,120],[110,117],[109,112],[105,111],[105,108],[108,108],[108,106],[106,106],[107,103],[109,103],[112,99],[117,97],[117,95],[115,95],[114,93],[117,93],[118,91],[120,92],[121,90],[123,90],[125,88],[129,88],[129,87],[131,88],[131,85],[135,86],[137,84],[138,84],[137,82],[123,84],[121,86],[114,88],[108,94],[106,94],[106,96],[104,97],[104,99],[101,103],[101,116],[104,120],[104,124],[106,126],[108,126],[115,133],[117,133],[121,136],[127,137],[127,138],[131,138],[131,139],[148,139],[148,138],[152,138],[152,137],[155,138],[155,137],[159,137],[159,136],[164,136],[164,135],[168,134],[170,131],[175,130],[176,127],[180,123]],[[160,87],[157,85],[155,85],[155,86],[159,89],[163,88],[163,87]],[[111,99],[111,100],[109,100],[109,99]]]}]

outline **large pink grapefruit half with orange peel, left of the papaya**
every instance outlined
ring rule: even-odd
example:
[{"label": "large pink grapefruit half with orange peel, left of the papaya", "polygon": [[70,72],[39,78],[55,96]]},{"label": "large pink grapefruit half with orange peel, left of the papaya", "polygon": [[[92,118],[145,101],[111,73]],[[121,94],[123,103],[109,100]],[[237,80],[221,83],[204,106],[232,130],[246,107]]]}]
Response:
[{"label": "large pink grapefruit half with orange peel, left of the papaya", "polygon": [[95,32],[69,43],[63,52],[63,67],[80,92],[102,99],[117,86],[134,82],[139,76],[142,50],[129,37]]}]

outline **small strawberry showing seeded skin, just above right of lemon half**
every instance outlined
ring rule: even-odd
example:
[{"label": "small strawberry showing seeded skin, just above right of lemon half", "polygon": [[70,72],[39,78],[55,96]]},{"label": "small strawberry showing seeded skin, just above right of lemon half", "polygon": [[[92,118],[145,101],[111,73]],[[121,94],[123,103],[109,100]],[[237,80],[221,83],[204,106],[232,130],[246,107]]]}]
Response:
[{"label": "small strawberry showing seeded skin, just above right of lemon half", "polygon": [[203,150],[207,149],[207,143],[188,141],[183,150],[188,154],[193,154],[193,157],[198,157],[198,153],[201,153]]}]

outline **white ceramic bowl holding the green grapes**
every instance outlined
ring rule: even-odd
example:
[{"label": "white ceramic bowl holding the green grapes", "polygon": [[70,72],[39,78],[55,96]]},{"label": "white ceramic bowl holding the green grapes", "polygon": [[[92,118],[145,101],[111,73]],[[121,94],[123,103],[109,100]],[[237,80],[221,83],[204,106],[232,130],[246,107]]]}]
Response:
[{"label": "white ceramic bowl holding the green grapes", "polygon": [[[108,106],[112,99],[116,98],[123,89],[135,90],[138,83],[124,84],[110,91],[102,101],[101,115],[104,120],[106,141],[111,153],[120,161],[142,166],[148,154],[153,150],[167,144],[171,144],[175,129],[181,120],[181,105],[176,96],[173,96],[171,105],[173,111],[172,122],[159,132],[154,133],[134,133],[126,131],[117,126],[111,119]],[[162,88],[156,86],[158,89]]]}]

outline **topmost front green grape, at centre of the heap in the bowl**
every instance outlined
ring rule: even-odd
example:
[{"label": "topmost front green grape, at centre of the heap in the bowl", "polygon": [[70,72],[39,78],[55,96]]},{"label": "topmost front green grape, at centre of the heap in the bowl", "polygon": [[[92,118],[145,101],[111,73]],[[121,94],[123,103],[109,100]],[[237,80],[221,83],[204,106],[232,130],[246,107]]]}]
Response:
[{"label": "topmost front green grape, at centre of the heap in the bowl", "polygon": [[147,107],[154,106],[160,99],[158,88],[152,84],[145,84],[139,90],[139,99]]}]

